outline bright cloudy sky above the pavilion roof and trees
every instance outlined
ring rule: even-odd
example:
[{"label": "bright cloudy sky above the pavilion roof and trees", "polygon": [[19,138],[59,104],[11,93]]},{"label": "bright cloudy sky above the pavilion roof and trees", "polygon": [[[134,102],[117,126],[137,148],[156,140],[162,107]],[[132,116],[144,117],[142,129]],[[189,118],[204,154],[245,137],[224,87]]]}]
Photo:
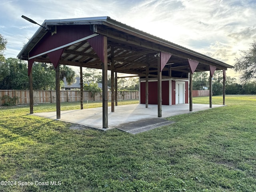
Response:
[{"label": "bright cloudy sky above the pavilion roof and trees", "polygon": [[[0,0],[5,57],[16,58],[48,19],[110,16],[170,42],[234,65],[256,40],[256,0]],[[228,76],[238,78],[233,70]]]}]

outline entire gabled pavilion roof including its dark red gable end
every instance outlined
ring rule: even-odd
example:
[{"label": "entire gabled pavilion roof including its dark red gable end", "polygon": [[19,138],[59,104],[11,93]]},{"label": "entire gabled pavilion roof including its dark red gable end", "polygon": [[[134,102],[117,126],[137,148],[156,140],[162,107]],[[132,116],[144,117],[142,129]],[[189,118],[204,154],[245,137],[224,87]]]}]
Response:
[{"label": "entire gabled pavilion roof including its dark red gable end", "polygon": [[[216,67],[216,70],[232,68],[229,64],[132,28],[108,16],[45,20],[42,26],[55,30],[56,34],[51,34],[40,27],[20,51],[18,58],[50,63],[49,53],[61,47],[63,51],[60,52],[59,64],[101,69],[102,60],[97,51],[98,42],[93,40],[101,35],[107,36],[108,63],[114,58],[116,72],[144,76],[146,67],[149,66],[150,75],[156,76],[158,52],[172,55],[163,70],[189,72],[188,59],[199,62],[196,71],[209,71],[209,66]],[[66,38],[70,40],[66,41]],[[45,44],[47,40],[49,43]],[[60,46],[61,41],[64,41],[62,46]],[[42,44],[48,48],[42,48]],[[56,45],[52,46],[52,44]],[[35,51],[38,46],[41,47]],[[112,56],[111,47],[114,48]],[[108,69],[110,70],[110,65]]]}]

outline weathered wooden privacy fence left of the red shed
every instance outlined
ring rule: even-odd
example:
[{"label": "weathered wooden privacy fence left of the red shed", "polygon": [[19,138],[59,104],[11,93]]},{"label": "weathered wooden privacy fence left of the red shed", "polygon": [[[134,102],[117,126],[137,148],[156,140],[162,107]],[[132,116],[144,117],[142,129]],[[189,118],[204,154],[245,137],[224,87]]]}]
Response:
[{"label": "weathered wooden privacy fence left of the red shed", "polygon": [[[55,90],[33,90],[34,103],[55,103]],[[84,101],[100,101],[101,94],[95,94],[84,91]],[[29,90],[0,90],[0,98],[16,98],[16,104],[29,104]],[[118,91],[118,100],[138,99],[139,91]],[[108,92],[108,100],[111,101],[111,91]],[[78,102],[80,101],[80,91],[60,91],[60,102]],[[5,99],[0,100],[0,105],[5,103]]]}]

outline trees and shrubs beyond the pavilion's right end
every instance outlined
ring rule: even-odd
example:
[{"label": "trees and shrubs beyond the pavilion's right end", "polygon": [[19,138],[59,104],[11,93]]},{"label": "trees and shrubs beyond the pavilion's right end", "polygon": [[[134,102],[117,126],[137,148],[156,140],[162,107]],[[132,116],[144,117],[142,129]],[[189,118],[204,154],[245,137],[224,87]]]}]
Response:
[{"label": "trees and shrubs beyond the pavilion's right end", "polygon": [[[241,57],[236,58],[234,70],[240,72],[240,79],[226,77],[226,94],[256,94],[256,41],[250,44],[249,50],[241,51]],[[207,72],[193,74],[193,90],[205,90],[209,88],[209,76]],[[223,93],[223,74],[216,71],[212,80],[213,95]]]}]

